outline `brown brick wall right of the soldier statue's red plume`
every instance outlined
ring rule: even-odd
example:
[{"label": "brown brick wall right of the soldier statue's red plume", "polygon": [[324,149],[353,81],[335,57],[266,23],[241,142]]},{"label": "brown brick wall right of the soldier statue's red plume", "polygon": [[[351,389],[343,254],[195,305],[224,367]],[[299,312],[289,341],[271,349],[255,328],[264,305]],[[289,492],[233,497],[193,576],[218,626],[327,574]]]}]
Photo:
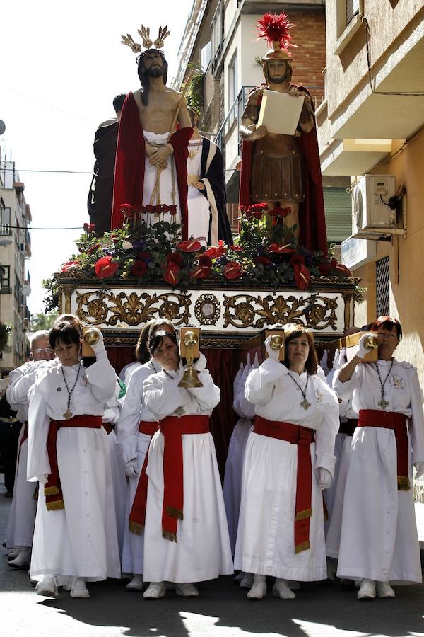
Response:
[{"label": "brown brick wall right of the soldier statue's red plume", "polygon": [[[325,49],[325,13],[322,11],[290,11],[290,21],[294,27],[290,30],[293,43],[293,84],[302,84],[310,91],[315,108],[324,99],[324,76],[326,65]],[[318,87],[318,88],[312,88]]]}]

